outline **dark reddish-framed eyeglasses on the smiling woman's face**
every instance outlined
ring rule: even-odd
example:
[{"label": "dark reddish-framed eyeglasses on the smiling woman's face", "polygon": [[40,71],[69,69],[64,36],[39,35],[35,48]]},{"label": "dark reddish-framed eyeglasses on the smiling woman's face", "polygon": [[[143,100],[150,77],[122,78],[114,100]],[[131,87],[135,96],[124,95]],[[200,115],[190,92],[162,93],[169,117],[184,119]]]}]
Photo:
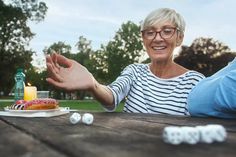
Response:
[{"label": "dark reddish-framed eyeglasses on the smiling woman's face", "polygon": [[158,32],[153,29],[143,30],[141,32],[145,39],[153,40],[154,38],[156,38],[157,33],[159,33],[162,39],[169,39],[175,34],[176,30],[179,30],[179,29],[176,27],[165,27],[161,31],[158,31]]}]

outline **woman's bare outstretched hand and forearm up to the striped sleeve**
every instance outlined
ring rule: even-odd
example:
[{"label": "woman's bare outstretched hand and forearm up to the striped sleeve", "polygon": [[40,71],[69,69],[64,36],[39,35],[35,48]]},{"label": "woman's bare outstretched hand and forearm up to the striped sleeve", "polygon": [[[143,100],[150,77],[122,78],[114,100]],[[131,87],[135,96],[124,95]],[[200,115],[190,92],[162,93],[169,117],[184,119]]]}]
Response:
[{"label": "woman's bare outstretched hand and forearm up to the striped sleeve", "polygon": [[46,63],[49,74],[46,80],[50,84],[68,91],[90,91],[106,108],[114,108],[112,92],[78,62],[53,53],[46,57]]}]

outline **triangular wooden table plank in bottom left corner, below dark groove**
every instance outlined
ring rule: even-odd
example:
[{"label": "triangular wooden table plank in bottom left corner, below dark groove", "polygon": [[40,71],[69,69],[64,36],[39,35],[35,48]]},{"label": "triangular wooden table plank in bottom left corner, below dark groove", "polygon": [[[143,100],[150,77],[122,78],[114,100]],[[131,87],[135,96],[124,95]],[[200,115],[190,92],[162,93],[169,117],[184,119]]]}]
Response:
[{"label": "triangular wooden table plank in bottom left corner, below dark groove", "polygon": [[[1,119],[1,118],[0,118]],[[66,157],[20,130],[0,120],[1,157]]]}]

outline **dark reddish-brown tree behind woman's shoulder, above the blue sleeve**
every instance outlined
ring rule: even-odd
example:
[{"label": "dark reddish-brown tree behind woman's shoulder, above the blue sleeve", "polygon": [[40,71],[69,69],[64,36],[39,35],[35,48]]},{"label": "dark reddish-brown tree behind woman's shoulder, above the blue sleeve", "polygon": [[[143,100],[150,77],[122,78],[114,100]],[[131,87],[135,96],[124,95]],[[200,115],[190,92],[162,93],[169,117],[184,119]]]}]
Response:
[{"label": "dark reddish-brown tree behind woman's shoulder, above the blue sleeve", "polygon": [[235,57],[227,45],[212,38],[197,38],[190,47],[182,46],[181,49],[175,62],[205,76],[214,74]]}]

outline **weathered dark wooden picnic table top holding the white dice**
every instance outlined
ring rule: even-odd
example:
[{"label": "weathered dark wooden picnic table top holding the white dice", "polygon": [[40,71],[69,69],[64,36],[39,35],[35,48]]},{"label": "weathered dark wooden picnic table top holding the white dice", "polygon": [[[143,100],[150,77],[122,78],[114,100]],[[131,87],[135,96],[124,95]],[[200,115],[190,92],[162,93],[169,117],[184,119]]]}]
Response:
[{"label": "weathered dark wooden picnic table top holding the white dice", "polygon": [[[81,113],[81,112],[80,112]],[[94,112],[94,123],[72,125],[72,113],[51,118],[0,117],[1,157],[235,157],[236,121],[170,115]],[[82,113],[81,113],[82,114]],[[227,140],[167,144],[164,127],[222,124]]]}]

